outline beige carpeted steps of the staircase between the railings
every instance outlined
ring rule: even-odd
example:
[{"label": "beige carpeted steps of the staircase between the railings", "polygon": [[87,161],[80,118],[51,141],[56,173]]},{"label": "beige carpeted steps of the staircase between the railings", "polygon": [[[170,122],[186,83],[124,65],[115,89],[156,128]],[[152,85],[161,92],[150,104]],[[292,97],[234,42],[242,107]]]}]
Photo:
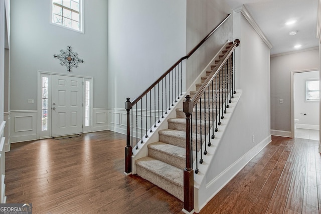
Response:
[{"label": "beige carpeted steps of the staircase between the railings", "polygon": [[[218,65],[220,59],[224,58],[227,51],[230,49],[233,43],[229,43],[225,50],[222,51],[222,54],[219,55],[219,59],[215,60],[215,64],[211,66],[211,71],[206,72],[206,76],[202,77],[202,83],[204,83],[207,77],[211,74],[212,70]],[[219,72],[222,72],[220,70]],[[228,75],[231,75],[232,71],[228,71]],[[222,73],[220,75],[223,75]],[[198,90],[202,83],[196,84],[196,90]],[[225,84],[225,81],[217,81],[218,84],[222,86]],[[224,87],[222,87],[224,88]],[[209,90],[210,89],[210,90]],[[214,93],[218,94],[224,93],[224,89],[218,91],[214,88]],[[197,91],[191,91],[190,95],[193,97]],[[230,93],[230,92],[228,92]],[[206,97],[212,97],[212,86],[207,88],[205,92]],[[215,95],[214,95],[215,97]],[[222,97],[222,96],[221,96]],[[210,102],[199,101],[197,106],[207,106],[212,103],[212,99],[210,98]],[[219,102],[218,100],[214,100]],[[225,101],[224,101],[225,102]],[[219,108],[219,105],[217,105]],[[222,107],[222,103],[220,105]],[[199,109],[199,107],[197,107]],[[207,108],[207,107],[206,107]],[[206,111],[206,110],[205,110]],[[206,114],[210,114],[209,118],[212,118],[212,114],[214,114],[214,118],[217,118],[220,109],[210,110],[210,112],[206,112]],[[196,109],[193,109],[192,118],[196,118],[195,115]],[[204,112],[204,110],[198,110],[198,112]],[[222,112],[222,110],[221,110]],[[198,113],[199,114],[199,113]],[[163,188],[169,193],[173,194],[180,200],[184,200],[184,183],[183,183],[183,169],[185,168],[185,154],[186,154],[186,119],[185,113],[183,112],[183,108],[176,109],[176,118],[168,119],[168,129],[158,131],[159,141],[148,144],[148,156],[142,157],[135,161],[136,164],[136,173],[142,178],[149,180],[155,185]],[[196,144],[201,144],[200,139],[205,139],[203,135],[201,138],[201,134],[205,133],[204,122],[198,120],[196,127],[196,120],[192,120],[193,128],[193,161],[195,160],[195,154],[200,150],[196,151]],[[202,125],[200,125],[202,124]],[[211,124],[214,124],[212,121]],[[198,142],[196,142],[196,133]],[[199,134],[200,133],[200,134]],[[203,142],[202,142],[203,143]],[[200,146],[199,146],[200,147]]]}]

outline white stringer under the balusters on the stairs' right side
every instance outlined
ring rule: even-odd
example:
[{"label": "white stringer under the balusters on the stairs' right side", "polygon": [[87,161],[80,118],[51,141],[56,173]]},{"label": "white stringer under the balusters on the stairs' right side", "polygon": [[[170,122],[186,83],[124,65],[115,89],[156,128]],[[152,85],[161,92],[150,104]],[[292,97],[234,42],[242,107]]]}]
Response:
[{"label": "white stringer under the balusters on the stairs' right side", "polygon": [[[210,201],[210,198],[206,198],[204,199],[202,196],[200,195],[208,195],[205,194],[206,191],[209,191],[207,183],[208,181],[205,179],[206,177],[206,173],[208,171],[208,168],[212,162],[212,159],[216,153],[216,149],[218,147],[218,145],[221,142],[221,139],[223,137],[223,135],[226,134],[225,129],[227,128],[228,124],[229,124],[229,120],[231,119],[231,117],[233,116],[235,107],[237,106],[237,103],[242,95],[242,91],[241,90],[236,90],[236,94],[233,94],[234,98],[232,99],[232,103],[229,103],[229,108],[226,109],[226,113],[224,114],[224,119],[221,119],[221,125],[218,126],[219,130],[217,132],[215,132],[215,138],[211,139],[211,146],[208,147],[207,146],[207,154],[204,155],[203,154],[203,163],[202,164],[198,164],[198,169],[199,172],[196,174],[194,173],[194,209],[195,212],[200,212],[200,210],[206,205],[206,203],[208,201]],[[228,101],[227,101],[228,102]],[[217,120],[219,120],[219,115],[216,118]],[[210,133],[211,134],[211,133]],[[206,136],[205,139],[209,139],[209,135]],[[204,151],[204,143],[202,145],[202,149]],[[201,153],[198,153],[198,156],[200,157]],[[193,169],[196,169],[196,161],[194,161],[193,163]],[[214,193],[214,192],[213,192]]]}]

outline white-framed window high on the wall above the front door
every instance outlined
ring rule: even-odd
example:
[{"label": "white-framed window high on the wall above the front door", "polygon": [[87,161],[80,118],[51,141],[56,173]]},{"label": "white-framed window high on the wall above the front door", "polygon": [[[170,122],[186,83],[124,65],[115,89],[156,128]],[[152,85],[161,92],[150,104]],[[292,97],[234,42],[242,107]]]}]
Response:
[{"label": "white-framed window high on the wall above the front door", "polygon": [[82,0],[51,0],[51,23],[83,32]]}]

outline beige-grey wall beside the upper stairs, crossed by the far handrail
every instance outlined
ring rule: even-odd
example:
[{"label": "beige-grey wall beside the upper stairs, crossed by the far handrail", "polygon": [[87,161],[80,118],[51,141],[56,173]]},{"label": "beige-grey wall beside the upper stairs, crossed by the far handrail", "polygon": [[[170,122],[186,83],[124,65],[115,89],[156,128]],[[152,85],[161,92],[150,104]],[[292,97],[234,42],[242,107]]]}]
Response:
[{"label": "beige-grey wall beside the upper stairs, crossed by the far handrail", "polygon": [[[188,0],[186,21],[186,54],[208,35],[228,14],[227,3],[221,0]],[[186,87],[188,88],[215,54],[233,40],[233,18],[230,17],[203,46],[186,62]]]}]

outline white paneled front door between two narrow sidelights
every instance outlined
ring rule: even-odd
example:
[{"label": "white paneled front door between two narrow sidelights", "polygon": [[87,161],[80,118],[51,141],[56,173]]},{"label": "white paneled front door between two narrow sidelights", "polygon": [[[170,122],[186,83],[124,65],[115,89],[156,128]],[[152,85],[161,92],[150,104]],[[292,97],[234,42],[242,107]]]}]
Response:
[{"label": "white paneled front door between two narrow sidelights", "polygon": [[51,135],[82,133],[83,78],[52,75]]}]

